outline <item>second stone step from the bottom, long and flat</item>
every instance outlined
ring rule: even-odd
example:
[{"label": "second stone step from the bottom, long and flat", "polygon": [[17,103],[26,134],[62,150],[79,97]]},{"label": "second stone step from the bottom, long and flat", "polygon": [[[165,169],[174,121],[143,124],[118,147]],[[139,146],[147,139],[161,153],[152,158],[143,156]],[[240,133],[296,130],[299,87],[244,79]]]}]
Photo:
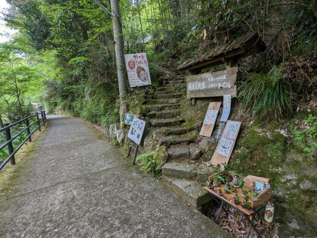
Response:
[{"label": "second stone step from the bottom, long and flat", "polygon": [[162,167],[163,177],[165,175],[182,179],[197,179],[199,182],[206,182],[209,176],[215,174],[212,167],[202,165],[167,162]]}]

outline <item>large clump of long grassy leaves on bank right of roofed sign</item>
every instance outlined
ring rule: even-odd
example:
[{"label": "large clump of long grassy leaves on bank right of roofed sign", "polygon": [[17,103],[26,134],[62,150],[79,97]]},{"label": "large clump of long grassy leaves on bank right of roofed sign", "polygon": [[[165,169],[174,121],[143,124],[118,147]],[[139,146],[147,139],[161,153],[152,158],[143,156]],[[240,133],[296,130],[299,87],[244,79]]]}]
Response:
[{"label": "large clump of long grassy leaves on bank right of roofed sign", "polygon": [[290,113],[292,86],[283,78],[282,67],[273,66],[267,75],[249,74],[238,88],[244,107],[252,116],[281,120]]}]

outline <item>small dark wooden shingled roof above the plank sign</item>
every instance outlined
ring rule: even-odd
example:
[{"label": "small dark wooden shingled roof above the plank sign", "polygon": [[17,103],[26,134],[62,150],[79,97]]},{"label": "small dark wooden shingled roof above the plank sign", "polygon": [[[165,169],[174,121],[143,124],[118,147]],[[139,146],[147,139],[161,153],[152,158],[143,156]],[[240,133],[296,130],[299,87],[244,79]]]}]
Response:
[{"label": "small dark wooden shingled roof above the plank sign", "polygon": [[178,66],[178,70],[182,73],[188,70],[191,74],[199,74],[203,69],[224,63],[230,68],[233,67],[239,58],[262,52],[265,48],[264,41],[255,31],[247,36],[241,36],[224,45],[217,46],[203,55],[185,61]]}]

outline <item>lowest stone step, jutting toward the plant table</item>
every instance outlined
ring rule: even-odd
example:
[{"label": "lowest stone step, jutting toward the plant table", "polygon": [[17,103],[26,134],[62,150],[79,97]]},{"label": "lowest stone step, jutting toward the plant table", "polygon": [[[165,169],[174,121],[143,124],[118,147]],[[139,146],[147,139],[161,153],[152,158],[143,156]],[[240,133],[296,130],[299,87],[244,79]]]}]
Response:
[{"label": "lowest stone step, jutting toward the plant table", "polygon": [[195,208],[200,208],[203,204],[213,199],[212,195],[202,188],[202,183],[166,175],[163,176],[163,181],[167,186],[171,187],[178,196]]}]

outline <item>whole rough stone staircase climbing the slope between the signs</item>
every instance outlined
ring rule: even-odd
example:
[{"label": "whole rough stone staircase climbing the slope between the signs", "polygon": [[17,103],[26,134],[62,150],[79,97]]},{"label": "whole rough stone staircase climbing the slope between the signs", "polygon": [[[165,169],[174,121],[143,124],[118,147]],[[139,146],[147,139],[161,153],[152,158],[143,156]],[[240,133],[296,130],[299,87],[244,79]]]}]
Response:
[{"label": "whole rough stone staircase climbing the slope between the signs", "polygon": [[212,168],[191,164],[201,157],[201,149],[195,144],[199,131],[185,130],[182,124],[180,101],[186,94],[186,81],[180,73],[163,82],[163,87],[146,99],[139,114],[144,116],[151,130],[164,141],[168,162],[162,168],[163,181],[187,203],[199,209],[212,196],[204,189],[204,182],[214,174]]}]

